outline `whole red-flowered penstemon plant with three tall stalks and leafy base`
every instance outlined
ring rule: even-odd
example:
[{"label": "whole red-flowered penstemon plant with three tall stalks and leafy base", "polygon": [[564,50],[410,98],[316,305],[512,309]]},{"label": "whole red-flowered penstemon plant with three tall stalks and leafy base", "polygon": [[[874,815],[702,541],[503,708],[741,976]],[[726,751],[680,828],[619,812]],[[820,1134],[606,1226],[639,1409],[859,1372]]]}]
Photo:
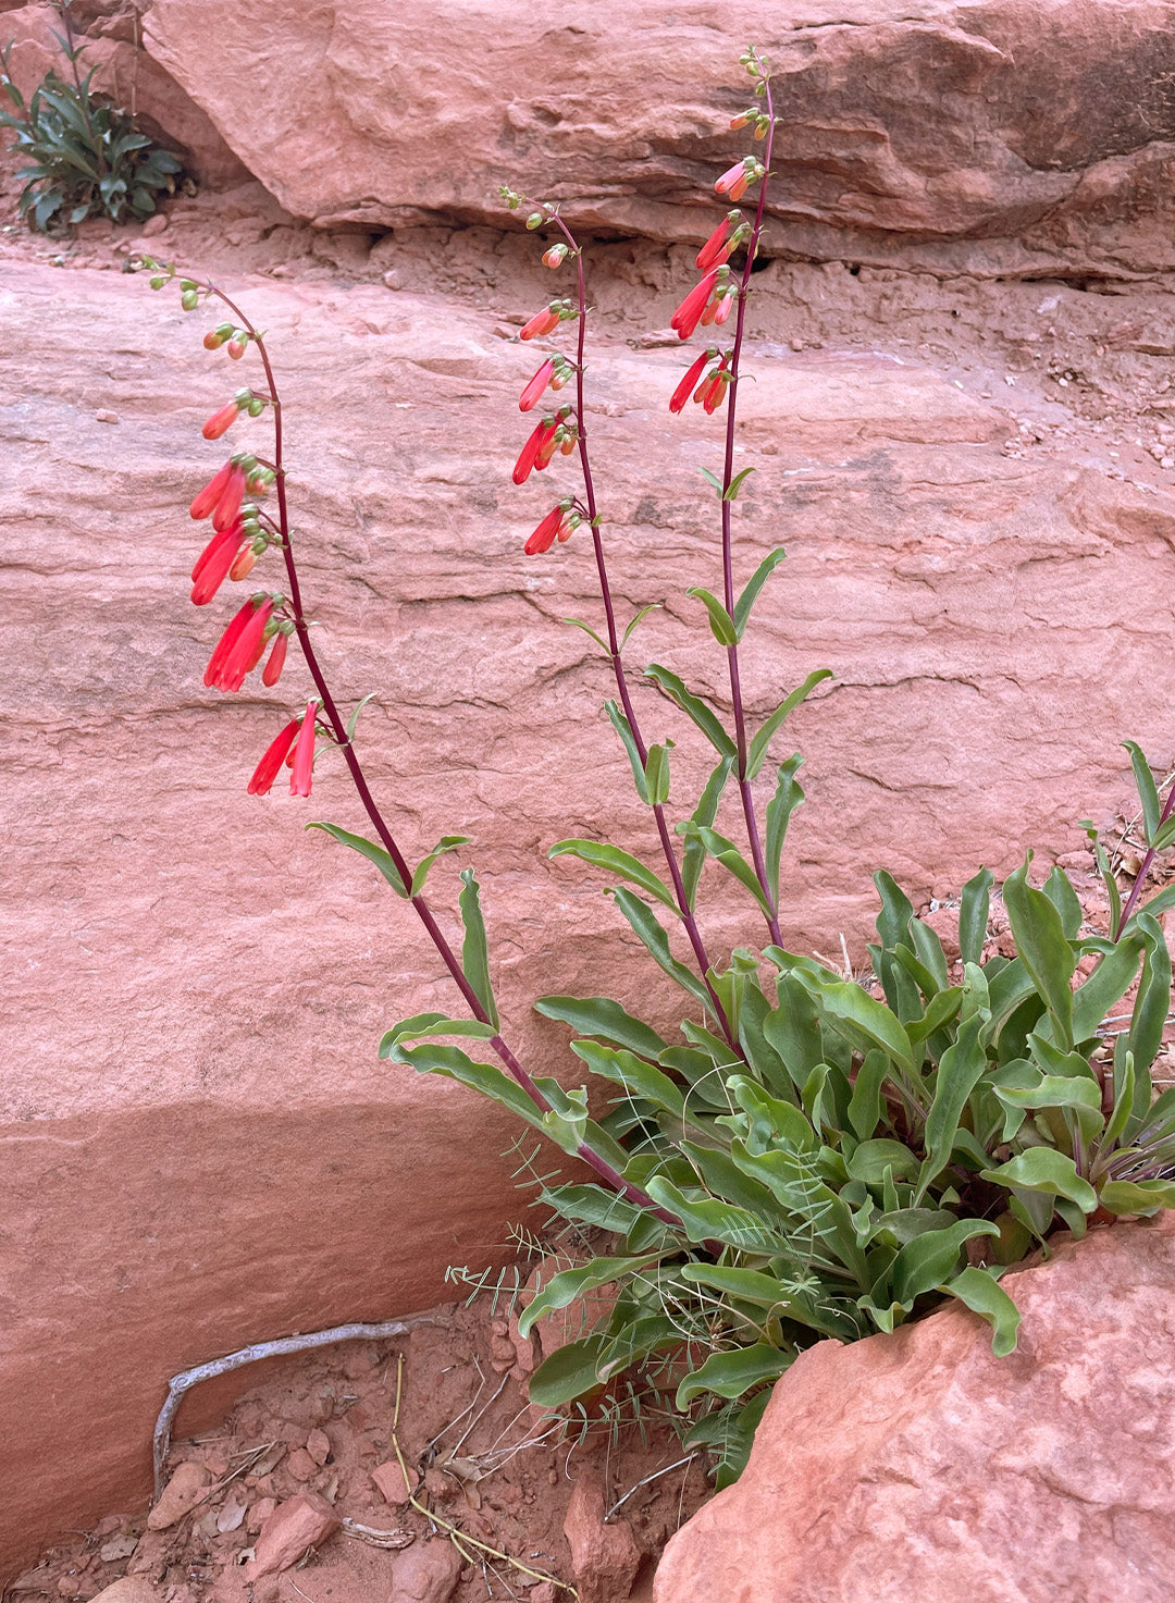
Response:
[{"label": "whole red-flowered penstemon plant with three tall stalks and leafy base", "polygon": [[[232,616],[205,684],[236,691],[264,657],[261,681],[277,686],[292,640],[313,681],[300,712],[261,755],[248,790],[268,793],[285,766],[292,795],[308,797],[316,742],[338,747],[375,838],[327,822],[308,827],[361,853],[412,904],[466,1008],[457,1018],[402,1020],[383,1037],[380,1056],[492,1096],[582,1159],[590,1178],[548,1183],[542,1201],[564,1220],[619,1238],[616,1250],[548,1279],[524,1311],[527,1330],[543,1313],[614,1289],[611,1311],[540,1366],[531,1396],[559,1407],[633,1364],[662,1383],[670,1377],[686,1441],[713,1452],[720,1483],[739,1473],[771,1383],[805,1347],[891,1330],[955,1297],[991,1324],[995,1351],[1008,1353],[1020,1318],[999,1284],[1008,1265],[1056,1230],[1080,1236],[1090,1221],[1175,1207],[1175,1090],[1156,1096],[1151,1077],[1172,989],[1157,914],[1175,906],[1175,888],[1140,906],[1154,854],[1175,840],[1175,787],[1161,800],[1137,747],[1130,757],[1148,856],[1125,906],[1096,830],[1087,826],[1111,902],[1106,936],[1085,931],[1077,894],[1060,869],[1042,888],[1029,883],[1029,856],[1003,885],[1016,955],[987,955],[992,875],[986,869],[962,890],[954,967],[890,875],[875,875],[882,911],[869,951],[882,995],[784,947],[779,864],[789,819],[803,800],[798,753],[773,763],[761,826],[757,782],[789,712],[827,673],[811,673],[750,728],[739,643],[784,553],[773,550],[736,593],[731,507],[750,471],[734,473],[736,414],[776,135],[768,64],[749,50],[742,66],[753,103],[731,127],[749,128],[755,151],[715,183],[733,210],[699,250],[701,277],[672,319],[681,340],[699,327],[713,330],[668,409],[678,414],[691,398],[705,414],[725,407],[723,471],[705,474],[718,503],[721,598],[702,588],[689,593],[725,654],[733,709],[728,728],[670,668],[643,670],[715,753],[701,797],[676,822],[672,742],[646,741],[625,659],[643,612],[622,628],[609,582],[585,423],[583,256],[558,207],[529,205],[526,224],[543,236],[548,268],[574,271],[574,287],[535,313],[521,338],[545,340],[566,327],[574,349],[545,354],[523,390],[521,412],[539,410],[513,479],[526,484],[561,455],[579,465],[577,487],[553,497],[526,551],[545,556],[577,534],[569,550],[588,559],[590,543],[603,632],[575,622],[596,641],[616,681],[606,713],[648,808],[656,866],[598,840],[561,840],[550,851],[574,854],[620,882],[611,890],[616,906],[688,997],[675,1040],[606,997],[535,1002],[542,1015],[571,1028],[575,1056],[611,1087],[600,1120],[590,1114],[585,1087],[567,1090],[531,1076],[507,1044],[473,869],[460,870],[460,954],[433,914],[430,872],[468,845],[466,837],[444,835],[412,866],[364,777],[354,744],[361,707],[343,715],[311,643],[290,531],[282,406],[263,335],[213,284],[144,261],[152,287],[178,285],[184,309],[223,306],[228,321],[205,335],[208,349],[244,357],[252,348],[261,365],[261,380],[237,390],[204,434],[218,439],[239,417],[264,414],[273,423],[271,455],[236,452],[191,505],[196,519],[212,519],[192,569],[197,606],[212,603],[226,580],[244,580],[261,559],[284,571],[281,590],[256,590]],[[755,188],[753,212],[744,212],[739,202]],[[511,210],[526,204],[508,189],[503,197]],[[263,505],[269,494],[273,511]],[[731,816],[742,845],[718,832],[720,811]],[[747,893],[763,938],[736,949],[725,965],[707,949],[696,914],[707,862]],[[688,962],[675,954],[670,931]],[[1117,1016],[1125,1028],[1111,1029],[1109,1016],[1127,995],[1130,1010]],[[479,1061],[457,1040],[478,1042],[497,1061]]]}]

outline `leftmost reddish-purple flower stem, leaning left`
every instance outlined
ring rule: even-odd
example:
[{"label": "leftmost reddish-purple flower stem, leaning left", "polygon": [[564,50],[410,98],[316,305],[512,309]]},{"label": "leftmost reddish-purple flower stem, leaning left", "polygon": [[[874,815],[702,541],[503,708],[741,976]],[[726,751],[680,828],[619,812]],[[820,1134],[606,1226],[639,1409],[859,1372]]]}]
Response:
[{"label": "leftmost reddish-purple flower stem, leaning left", "polygon": [[[354,745],[353,745],[353,742],[351,742],[351,739],[349,739],[349,736],[346,733],[346,723],[343,721],[343,717],[338,712],[335,699],[330,694],[330,688],[327,684],[325,675],[322,673],[322,667],[321,667],[321,664],[317,660],[317,656],[314,654],[314,648],[311,646],[311,641],[309,641],[309,624],[308,624],[306,616],[305,616],[303,608],[301,608],[301,587],[298,583],[298,569],[297,569],[297,563],[293,559],[293,543],[290,540],[290,519],[289,519],[287,500],[285,500],[285,468],[282,465],[282,402],[281,402],[281,398],[279,398],[279,393],[277,393],[277,382],[274,378],[273,367],[269,365],[269,353],[264,348],[264,340],[261,338],[261,335],[258,335],[256,329],[248,321],[248,317],[245,317],[245,314],[240,311],[240,308],[234,301],[231,301],[229,297],[223,290],[216,289],[216,285],[210,284],[210,282],[207,284],[207,289],[213,295],[216,295],[218,300],[221,300],[228,306],[228,309],[232,313],[232,316],[239,321],[240,327],[248,330],[248,335],[250,335],[253,345],[256,345],[258,356],[261,357],[261,364],[264,367],[264,377],[266,377],[266,383],[269,385],[269,396],[271,396],[271,406],[273,406],[273,414],[274,414],[274,460],[273,460],[273,468],[274,468],[274,473],[277,474],[277,524],[279,524],[281,537],[282,537],[282,556],[285,558],[285,575],[287,575],[287,583],[289,583],[289,590],[290,590],[289,608],[290,608],[290,612],[293,614],[293,624],[295,624],[295,630],[298,633],[298,644],[301,646],[301,652],[303,652],[303,656],[306,659],[306,667],[309,668],[309,675],[314,680],[314,688],[317,689],[317,692],[319,692],[319,696],[322,699],[322,710],[327,715],[327,721],[329,721],[329,725],[330,725],[330,728],[333,731],[335,742],[340,747],[340,750],[343,752],[343,760],[346,761],[346,766],[348,766],[348,769],[351,773],[351,782],[354,784],[354,789],[356,789],[356,792],[359,795],[359,800],[364,805],[364,811],[367,813],[367,818],[372,821],[375,834],[380,837],[380,842],[383,843],[388,856],[394,862],[396,872],[399,874],[401,883],[402,883],[406,893],[409,894],[409,901],[412,902],[412,907],[415,909],[417,917],[420,919],[420,922],[423,923],[425,930],[428,931],[428,935],[430,935],[430,938],[433,941],[433,946],[441,954],[441,960],[444,962],[444,967],[449,970],[449,973],[450,973],[450,976],[454,979],[454,984],[462,992],[462,995],[465,999],[465,1003],[470,1008],[470,1011],[473,1013],[473,1016],[479,1023],[483,1023],[483,1024],[491,1024],[492,1021],[491,1021],[489,1013],[483,1007],[483,1003],[481,1003],[476,991],[470,984],[470,981],[465,978],[465,970],[462,968],[457,954],[454,952],[454,949],[450,947],[449,941],[446,939],[444,931],[441,930],[441,927],[438,925],[436,919],[433,917],[433,909],[428,906],[428,901],[423,896],[412,896],[410,894],[410,891],[412,891],[412,870],[409,869],[407,861],[404,859],[404,854],[401,853],[399,846],[396,845],[396,840],[394,840],[394,837],[393,837],[393,834],[391,834],[391,830],[390,830],[390,827],[388,827],[388,824],[386,824],[386,821],[385,821],[385,818],[383,818],[383,814],[382,814],[382,811],[380,811],[380,808],[378,808],[378,805],[377,805],[372,792],[370,792],[370,787],[367,784],[367,777],[365,777],[365,774],[362,771],[362,765],[359,763],[359,758],[356,755]],[[531,1098],[531,1101],[537,1108],[540,1108],[543,1112],[553,1111],[551,1109],[551,1103],[539,1090],[539,1087],[535,1085],[535,1082],[526,1072],[526,1069],[518,1061],[518,1058],[510,1050],[510,1047],[505,1044],[505,1040],[502,1040],[502,1036],[499,1036],[499,1034],[491,1036],[489,1044],[494,1048],[494,1052],[499,1055],[499,1058],[502,1060],[502,1063],[505,1064],[505,1068],[510,1072],[510,1076],[523,1087],[523,1090]],[[630,1185],[630,1181],[627,1181],[619,1173],[619,1170],[614,1169],[612,1164],[608,1162],[608,1159],[601,1157],[600,1153],[596,1153],[587,1141],[580,1141],[579,1143],[579,1146],[577,1146],[577,1156],[590,1169],[593,1169],[596,1172],[596,1175],[600,1175],[601,1180],[604,1180],[614,1191],[617,1191],[628,1202],[635,1202],[638,1207],[646,1209],[649,1213],[656,1215],[656,1218],[659,1218],[664,1225],[668,1225],[673,1230],[680,1230],[681,1228],[681,1220],[676,1218],[675,1213],[670,1213],[667,1209],[659,1207],[652,1201],[652,1197],[648,1196],[648,1193],[641,1191],[640,1186]]]}]

